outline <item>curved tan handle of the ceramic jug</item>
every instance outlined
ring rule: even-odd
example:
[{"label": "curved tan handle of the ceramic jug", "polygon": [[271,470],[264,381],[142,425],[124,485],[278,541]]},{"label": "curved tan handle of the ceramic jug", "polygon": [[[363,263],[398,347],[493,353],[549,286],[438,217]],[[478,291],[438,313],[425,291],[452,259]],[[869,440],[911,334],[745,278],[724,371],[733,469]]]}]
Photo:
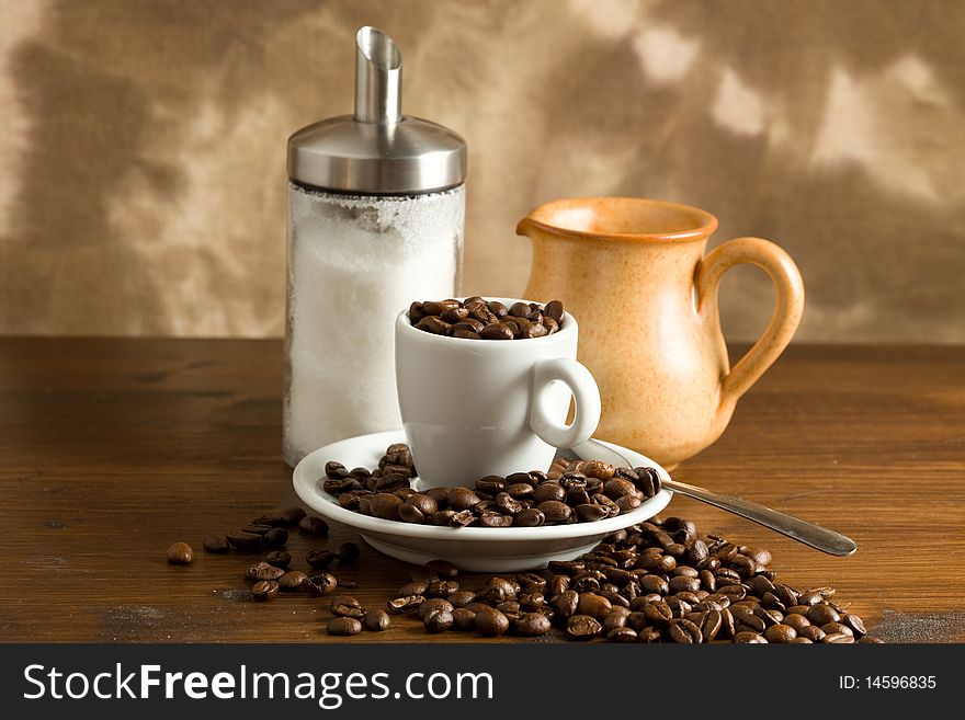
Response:
[{"label": "curved tan handle of the ceramic jug", "polygon": [[774,283],[777,297],[768,329],[722,380],[722,407],[736,402],[777,359],[791,342],[804,311],[804,281],[791,255],[761,238],[737,238],[712,250],[697,266],[695,284],[701,315],[716,317],[720,277],[740,263],[763,270]]}]

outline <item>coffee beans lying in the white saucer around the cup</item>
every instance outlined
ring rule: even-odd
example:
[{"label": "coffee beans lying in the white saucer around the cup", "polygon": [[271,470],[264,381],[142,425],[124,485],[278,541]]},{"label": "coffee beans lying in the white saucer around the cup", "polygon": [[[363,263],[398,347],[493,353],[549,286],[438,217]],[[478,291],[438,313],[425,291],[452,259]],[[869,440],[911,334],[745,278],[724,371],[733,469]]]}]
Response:
[{"label": "coffee beans lying in the white saucer around the cup", "polygon": [[331,460],[322,489],[339,505],[387,521],[449,527],[537,527],[592,523],[640,506],[660,492],[656,468],[617,468],[600,460],[557,458],[549,470],[489,476],[475,488],[410,487],[416,476],[404,444],[390,445],[374,470]]}]

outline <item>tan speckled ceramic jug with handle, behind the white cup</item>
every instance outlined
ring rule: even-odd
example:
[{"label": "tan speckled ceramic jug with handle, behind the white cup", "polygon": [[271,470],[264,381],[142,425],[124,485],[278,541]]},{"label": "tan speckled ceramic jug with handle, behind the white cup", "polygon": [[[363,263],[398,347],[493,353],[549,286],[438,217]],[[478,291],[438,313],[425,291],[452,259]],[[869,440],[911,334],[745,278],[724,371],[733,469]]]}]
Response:
[{"label": "tan speckled ceramic jug with handle, behind the white cup", "polygon": [[[525,297],[558,298],[579,320],[578,357],[603,401],[597,437],[667,468],[720,436],[804,309],[801,273],[774,243],[739,238],[704,256],[716,227],[702,209],[635,197],[560,199],[516,227],[533,242]],[[764,334],[730,368],[717,287],[738,263],[763,268],[777,301]]]}]

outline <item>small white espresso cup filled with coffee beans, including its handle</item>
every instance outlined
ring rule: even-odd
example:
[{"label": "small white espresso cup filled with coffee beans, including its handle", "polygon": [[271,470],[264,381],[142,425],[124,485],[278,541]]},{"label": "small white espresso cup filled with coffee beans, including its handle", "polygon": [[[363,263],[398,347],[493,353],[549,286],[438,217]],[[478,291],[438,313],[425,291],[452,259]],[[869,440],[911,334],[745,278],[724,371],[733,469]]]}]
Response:
[{"label": "small white espresso cup filled with coffee beans, including its handle", "polygon": [[446,338],[417,330],[401,312],[396,385],[421,487],[472,488],[489,475],[546,470],[557,448],[589,439],[600,390],[576,359],[578,331],[566,312],[559,331],[543,338]]}]

